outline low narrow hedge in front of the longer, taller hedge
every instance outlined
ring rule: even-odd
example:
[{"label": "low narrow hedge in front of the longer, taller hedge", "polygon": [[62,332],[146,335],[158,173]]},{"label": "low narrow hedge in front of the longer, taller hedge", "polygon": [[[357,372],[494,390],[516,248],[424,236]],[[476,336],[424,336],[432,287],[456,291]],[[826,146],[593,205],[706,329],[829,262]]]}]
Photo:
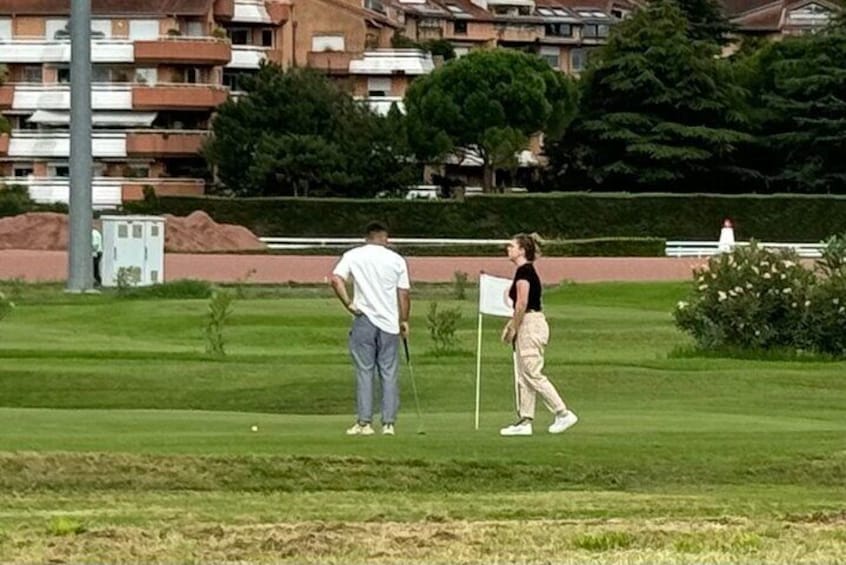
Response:
[{"label": "low narrow hedge in front of the longer, taller hedge", "polygon": [[[654,237],[607,237],[582,240],[547,241],[544,257],[663,257],[665,240]],[[499,245],[394,245],[398,253],[407,257],[497,257],[505,256]],[[341,255],[350,247],[312,247],[308,249],[277,249],[279,255]]]}]

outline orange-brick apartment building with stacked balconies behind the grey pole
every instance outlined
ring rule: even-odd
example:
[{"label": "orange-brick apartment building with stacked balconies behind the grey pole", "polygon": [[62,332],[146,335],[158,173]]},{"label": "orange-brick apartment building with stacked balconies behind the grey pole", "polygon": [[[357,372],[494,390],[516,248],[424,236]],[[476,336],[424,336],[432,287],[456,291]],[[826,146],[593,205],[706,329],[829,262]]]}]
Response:
[{"label": "orange-brick apartment building with stacked balconies behind the grey pole", "polygon": [[[0,185],[39,201],[69,195],[69,0],[0,0]],[[202,194],[199,151],[215,108],[262,61],[342,78],[378,109],[432,59],[390,49],[378,0],[92,0],[95,207]]]}]

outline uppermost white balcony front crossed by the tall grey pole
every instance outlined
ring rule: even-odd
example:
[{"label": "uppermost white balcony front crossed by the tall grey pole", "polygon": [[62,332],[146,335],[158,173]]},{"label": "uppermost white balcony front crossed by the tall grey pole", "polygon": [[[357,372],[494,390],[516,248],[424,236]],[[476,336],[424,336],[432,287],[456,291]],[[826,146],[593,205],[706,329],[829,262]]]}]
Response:
[{"label": "uppermost white balcony front crossed by the tall grey pole", "polygon": [[[132,41],[96,39],[91,42],[91,62],[132,63]],[[69,40],[0,39],[0,63],[69,63]]]}]

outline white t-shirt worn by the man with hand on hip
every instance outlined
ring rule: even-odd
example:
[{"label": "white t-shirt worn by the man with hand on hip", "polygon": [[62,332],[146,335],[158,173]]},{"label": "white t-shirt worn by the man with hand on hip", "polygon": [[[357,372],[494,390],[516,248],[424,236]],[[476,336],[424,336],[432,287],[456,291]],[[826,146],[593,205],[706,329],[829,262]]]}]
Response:
[{"label": "white t-shirt worn by the man with hand on hip", "polygon": [[397,289],[409,289],[408,265],[384,245],[369,243],[341,257],[333,275],[353,278],[353,307],[390,334],[399,333]]}]

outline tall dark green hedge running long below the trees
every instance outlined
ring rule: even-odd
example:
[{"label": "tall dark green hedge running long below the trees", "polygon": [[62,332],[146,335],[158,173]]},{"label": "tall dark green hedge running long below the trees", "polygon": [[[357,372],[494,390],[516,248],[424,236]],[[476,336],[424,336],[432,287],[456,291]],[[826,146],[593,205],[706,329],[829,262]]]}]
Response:
[{"label": "tall dark green hedge running long below the trees", "polygon": [[134,203],[137,213],[187,215],[205,210],[218,222],[260,236],[360,235],[380,219],[397,237],[659,237],[716,240],[725,218],[739,239],[813,242],[846,230],[846,197],[557,193],[475,196],[465,202],[162,197]]}]

